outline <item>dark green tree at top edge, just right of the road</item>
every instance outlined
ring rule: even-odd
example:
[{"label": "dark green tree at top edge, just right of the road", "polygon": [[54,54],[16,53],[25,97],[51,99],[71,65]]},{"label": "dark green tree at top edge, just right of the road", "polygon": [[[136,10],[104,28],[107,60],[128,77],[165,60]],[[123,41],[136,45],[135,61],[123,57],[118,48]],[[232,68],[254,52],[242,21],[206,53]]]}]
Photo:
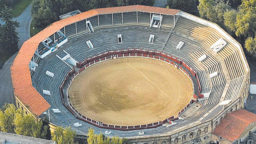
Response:
[{"label": "dark green tree at top edge, just right of the road", "polygon": [[168,0],[167,3],[170,8],[189,12],[196,2],[195,0]]}]

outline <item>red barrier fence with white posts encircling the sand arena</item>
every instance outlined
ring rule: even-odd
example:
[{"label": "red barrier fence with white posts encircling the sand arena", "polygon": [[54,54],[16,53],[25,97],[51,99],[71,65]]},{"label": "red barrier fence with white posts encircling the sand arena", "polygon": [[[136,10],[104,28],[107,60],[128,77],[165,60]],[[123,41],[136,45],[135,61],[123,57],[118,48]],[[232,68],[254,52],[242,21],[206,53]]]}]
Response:
[{"label": "red barrier fence with white posts encircling the sand arena", "polygon": [[[186,76],[190,79],[192,85],[193,85],[193,97],[195,99],[197,99],[197,95],[195,95],[195,91],[194,91],[194,83],[192,80],[192,77],[190,76],[190,74],[182,67],[180,67],[179,64],[182,64],[187,70],[189,70],[189,72],[195,77],[197,75],[197,72],[195,70],[193,70],[192,67],[190,67],[189,65],[187,65],[184,61],[182,61],[181,59],[178,59],[174,56],[165,54],[163,52],[160,51],[148,51],[148,50],[142,50],[142,49],[126,49],[126,50],[116,50],[116,51],[107,51],[103,54],[99,54],[97,56],[93,56],[91,58],[86,59],[85,61],[83,61],[82,63],[79,63],[79,66],[81,67],[80,70],[78,70],[77,72],[74,72],[74,69],[72,69],[67,75],[66,78],[64,79],[61,87],[60,87],[60,91],[61,91],[61,97],[62,97],[62,102],[63,105],[73,114],[73,115],[77,115],[76,118],[79,120],[82,120],[84,122],[90,123],[91,125],[97,126],[99,128],[104,128],[104,129],[115,129],[115,130],[122,130],[122,131],[129,131],[129,130],[138,130],[138,129],[150,129],[150,128],[155,128],[158,126],[161,126],[162,124],[169,122],[170,120],[177,120],[179,119],[178,117],[175,118],[174,116],[170,117],[170,118],[166,118],[163,121],[158,121],[158,122],[153,122],[150,124],[146,124],[146,125],[136,125],[136,126],[118,126],[118,125],[108,125],[108,124],[104,124],[102,122],[87,118],[86,116],[82,115],[81,113],[79,113],[79,111],[77,111],[77,109],[69,102],[69,96],[68,96],[68,89],[73,81],[73,79],[79,75],[80,72],[82,72],[83,70],[85,70],[87,67],[90,67],[91,65],[94,65],[96,63],[102,62],[102,61],[106,61],[106,60],[110,60],[112,58],[124,58],[124,57],[143,57],[143,58],[153,58],[153,59],[158,59],[160,61],[163,61],[165,63],[168,63],[170,65],[173,65],[175,67],[177,67],[179,70],[181,70],[184,74],[186,74]],[[174,61],[174,62],[173,62]],[[68,84],[68,88],[67,88],[67,102],[68,105],[65,105],[64,102],[64,93],[63,93],[63,87],[64,84],[71,78],[71,80],[69,81]],[[196,77],[198,78],[198,77]],[[197,81],[199,81],[197,79]],[[181,111],[179,111],[177,113],[177,115],[179,116],[183,111],[185,111],[187,108],[189,108],[189,106],[191,106],[194,102],[196,102],[196,100],[191,99],[190,103],[187,104]],[[78,116],[79,115],[79,116]]]}]

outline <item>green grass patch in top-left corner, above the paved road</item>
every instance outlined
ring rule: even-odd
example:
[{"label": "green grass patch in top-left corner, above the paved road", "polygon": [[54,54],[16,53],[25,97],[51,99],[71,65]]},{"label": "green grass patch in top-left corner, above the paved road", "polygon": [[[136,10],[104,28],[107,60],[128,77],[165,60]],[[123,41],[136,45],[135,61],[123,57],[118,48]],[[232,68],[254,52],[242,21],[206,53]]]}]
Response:
[{"label": "green grass patch in top-left corner, above the paved road", "polygon": [[13,16],[18,17],[32,2],[32,0],[20,0],[13,6]]}]

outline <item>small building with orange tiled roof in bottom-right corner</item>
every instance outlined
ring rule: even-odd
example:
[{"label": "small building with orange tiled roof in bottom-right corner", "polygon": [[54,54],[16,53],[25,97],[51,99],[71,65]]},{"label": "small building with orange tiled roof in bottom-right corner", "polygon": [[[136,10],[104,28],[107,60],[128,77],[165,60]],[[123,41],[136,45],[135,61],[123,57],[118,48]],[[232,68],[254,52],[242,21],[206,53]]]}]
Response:
[{"label": "small building with orange tiled roof in bottom-right corner", "polygon": [[255,131],[256,114],[239,109],[224,116],[212,132],[212,139],[215,143],[246,143],[244,140],[250,135],[255,135],[250,134]]}]

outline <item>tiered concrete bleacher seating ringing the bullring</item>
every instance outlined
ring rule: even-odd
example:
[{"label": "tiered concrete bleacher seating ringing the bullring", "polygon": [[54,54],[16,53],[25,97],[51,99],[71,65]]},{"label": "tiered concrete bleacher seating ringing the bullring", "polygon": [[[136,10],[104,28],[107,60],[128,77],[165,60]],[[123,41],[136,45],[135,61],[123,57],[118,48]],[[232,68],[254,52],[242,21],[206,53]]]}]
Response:
[{"label": "tiered concrete bleacher seating ringing the bullring", "polygon": [[[59,109],[61,113],[53,113],[50,111],[51,122],[59,126],[69,126],[75,129],[78,134],[88,132],[88,128],[93,127],[96,133],[104,131],[86,122],[75,119],[62,104],[61,93],[59,87],[66,76],[67,72],[72,68],[67,63],[61,61],[56,54],[63,58],[67,51],[77,61],[82,62],[86,58],[109,50],[116,49],[149,49],[161,51],[163,43],[167,40],[163,52],[176,56],[184,60],[188,65],[197,71],[202,86],[201,93],[211,91],[208,99],[200,100],[202,105],[200,109],[186,120],[177,121],[177,125],[168,128],[160,126],[154,129],[143,130],[145,134],[163,134],[165,132],[186,127],[195,121],[207,121],[214,117],[221,106],[218,103],[223,100],[236,99],[237,93],[241,91],[245,68],[241,61],[239,50],[227,41],[227,45],[218,53],[215,53],[210,46],[219,38],[223,38],[217,31],[208,26],[191,21],[184,17],[175,15],[175,27],[173,29],[173,16],[163,15],[161,28],[150,28],[150,14],[138,12],[138,24],[136,12],[113,13],[99,15],[98,17],[90,17],[94,28],[94,33],[86,31],[86,21],[77,22],[77,35],[75,24],[65,26],[65,34],[69,37],[68,42],[58,48],[57,51],[40,59],[36,72],[33,72],[31,78],[33,86],[38,92],[49,102],[51,109]],[[153,15],[153,14],[152,14]],[[152,16],[151,16],[152,17]],[[173,29],[170,37],[167,36]],[[64,28],[61,29],[64,33]],[[122,34],[122,42],[118,43],[117,35]],[[150,34],[154,35],[153,43],[149,43]],[[53,40],[53,35],[50,36]],[[55,33],[55,38],[58,34]],[[90,40],[94,46],[89,49],[86,41]],[[176,49],[177,44],[182,41],[184,45],[180,50]],[[38,49],[42,49],[43,45],[39,44]],[[203,54],[207,58],[199,62],[198,58]],[[45,74],[46,71],[54,73],[54,77]],[[218,72],[218,76],[209,78],[209,74]],[[45,95],[42,90],[49,90],[51,95]],[[72,126],[75,122],[82,125],[80,127]],[[111,135],[119,135],[123,137],[138,136],[138,131],[118,131],[111,130]]]}]

